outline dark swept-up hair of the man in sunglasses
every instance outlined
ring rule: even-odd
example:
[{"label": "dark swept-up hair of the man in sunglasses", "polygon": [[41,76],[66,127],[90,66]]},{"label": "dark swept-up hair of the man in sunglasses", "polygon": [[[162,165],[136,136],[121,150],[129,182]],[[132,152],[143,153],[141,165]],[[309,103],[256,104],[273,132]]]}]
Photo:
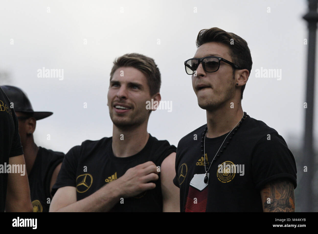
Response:
[{"label": "dark swept-up hair of the man in sunglasses", "polygon": [[[239,37],[238,35],[232,32],[225,32],[224,30],[217,27],[200,30],[196,41],[197,48],[208,42],[219,42],[227,46],[230,50],[232,62],[238,65],[241,69],[247,69],[251,74],[251,51],[247,46],[247,42],[243,38]],[[235,68],[233,67],[233,76],[234,74]],[[241,88],[241,99],[243,99],[244,89],[245,85],[243,85]]]}]

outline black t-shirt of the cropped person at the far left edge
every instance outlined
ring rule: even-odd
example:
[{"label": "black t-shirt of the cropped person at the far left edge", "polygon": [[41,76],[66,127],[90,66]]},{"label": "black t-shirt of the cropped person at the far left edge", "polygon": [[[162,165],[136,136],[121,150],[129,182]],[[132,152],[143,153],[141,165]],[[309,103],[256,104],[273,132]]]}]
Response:
[{"label": "black t-shirt of the cropped person at the far left edge", "polygon": [[[0,164],[9,164],[9,158],[23,154],[17,116],[10,101],[0,88]],[[8,174],[0,173],[0,211],[4,211],[7,194]]]}]

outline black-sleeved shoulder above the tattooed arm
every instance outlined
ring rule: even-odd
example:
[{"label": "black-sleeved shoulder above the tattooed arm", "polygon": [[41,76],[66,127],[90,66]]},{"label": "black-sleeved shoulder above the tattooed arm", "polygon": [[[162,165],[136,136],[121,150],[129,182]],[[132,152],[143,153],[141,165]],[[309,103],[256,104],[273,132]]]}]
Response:
[{"label": "black-sleeved shoulder above the tattooed arm", "polygon": [[251,166],[256,188],[266,183],[288,178],[297,186],[297,167],[293,153],[289,150],[284,138],[264,122],[252,119],[252,127],[245,147],[251,149]]}]

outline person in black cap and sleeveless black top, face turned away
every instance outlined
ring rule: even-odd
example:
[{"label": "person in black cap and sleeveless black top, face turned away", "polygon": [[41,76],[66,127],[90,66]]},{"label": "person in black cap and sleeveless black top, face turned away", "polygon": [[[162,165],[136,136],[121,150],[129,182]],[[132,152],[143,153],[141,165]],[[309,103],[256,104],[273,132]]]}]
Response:
[{"label": "person in black cap and sleeveless black top, face turned away", "polygon": [[37,146],[33,133],[36,121],[53,113],[33,111],[26,94],[15,86],[4,85],[1,88],[13,103],[19,121],[19,135],[24,150],[33,212],[49,212],[52,186],[59,174],[64,153]]}]

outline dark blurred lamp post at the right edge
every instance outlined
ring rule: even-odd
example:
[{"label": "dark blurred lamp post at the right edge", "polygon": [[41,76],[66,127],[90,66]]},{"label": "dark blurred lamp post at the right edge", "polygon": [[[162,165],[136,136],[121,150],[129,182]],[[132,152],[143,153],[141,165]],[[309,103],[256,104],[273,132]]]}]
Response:
[{"label": "dark blurred lamp post at the right edge", "polygon": [[[307,166],[307,172],[303,172],[304,168],[299,168],[302,171],[302,196],[298,204],[302,204],[304,212],[312,212],[313,193],[312,179],[315,173],[314,168],[314,151],[313,151],[313,113],[314,113],[314,87],[315,87],[315,54],[316,54],[316,29],[318,21],[317,13],[318,0],[308,0],[309,11],[303,17],[308,22],[308,64],[307,64],[307,92],[306,100],[307,109],[305,109],[305,136],[303,144],[304,165]],[[297,201],[296,201],[297,207]]]}]

